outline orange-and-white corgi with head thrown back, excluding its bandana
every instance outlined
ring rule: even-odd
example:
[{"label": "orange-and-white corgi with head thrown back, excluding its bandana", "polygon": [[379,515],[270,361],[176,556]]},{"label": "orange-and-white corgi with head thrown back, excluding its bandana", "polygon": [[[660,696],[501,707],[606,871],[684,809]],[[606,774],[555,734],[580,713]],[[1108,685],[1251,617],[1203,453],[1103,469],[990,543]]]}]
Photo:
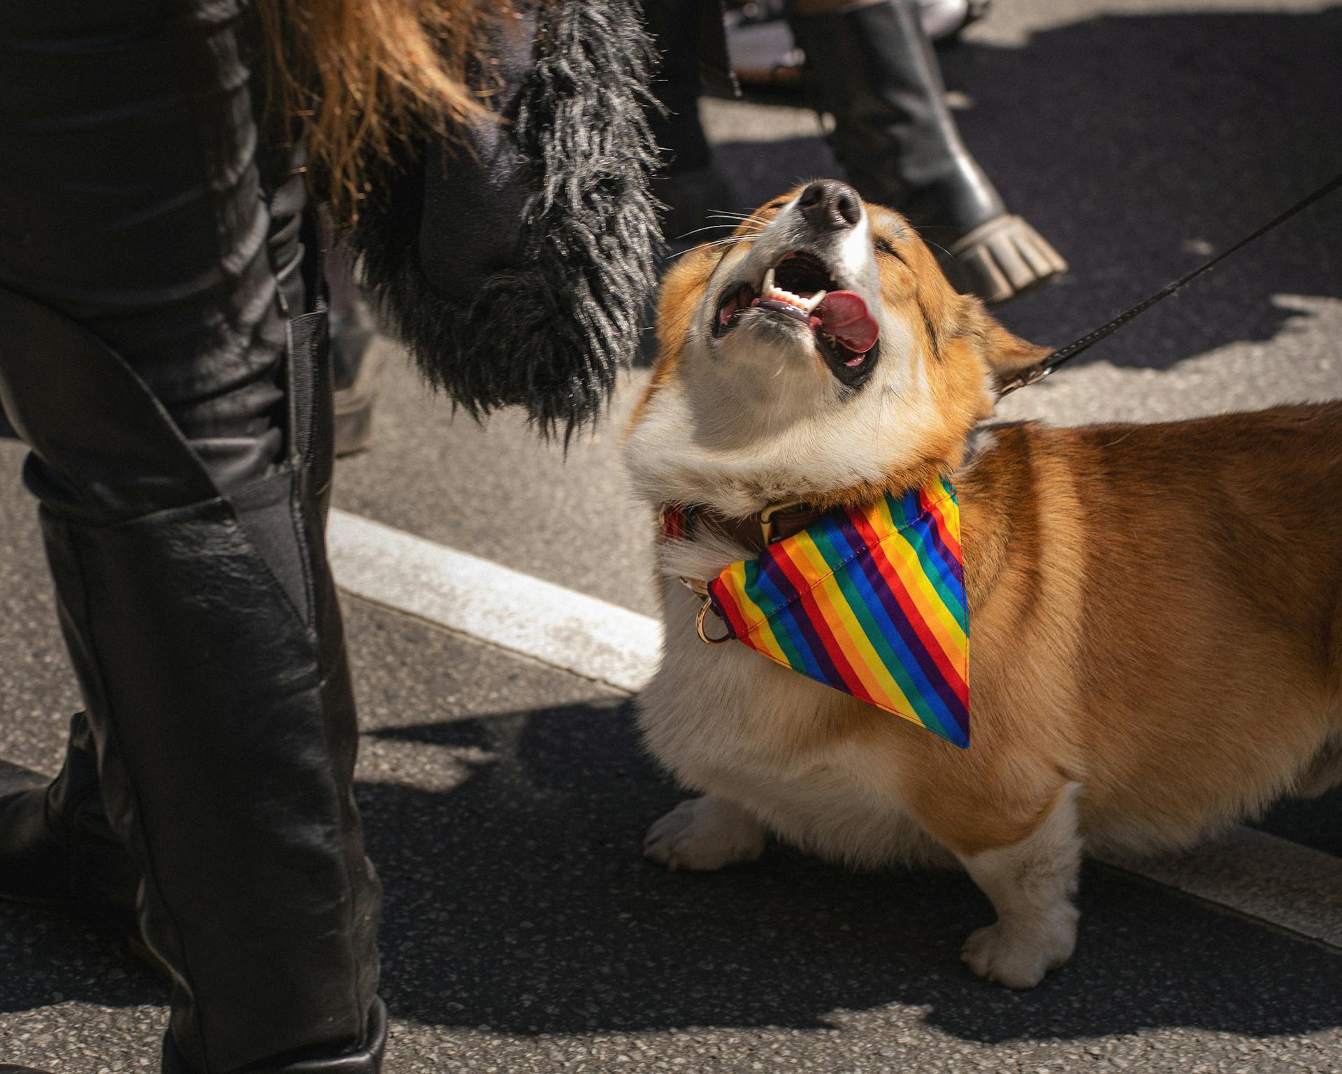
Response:
[{"label": "orange-and-white corgi with head thrown back, excluding its bandana", "polygon": [[[1031,988],[1072,955],[1087,848],[1180,847],[1342,783],[1342,401],[989,424],[1047,352],[828,180],[679,259],[658,333],[627,467],[651,506],[718,521],[659,546],[666,642],[639,721],[699,797],[652,824],[650,858],[721,869],[773,832],[851,865],[958,862],[997,913],[964,960]],[[966,749],[701,640],[682,579],[757,558],[742,533],[770,506],[935,479],[960,503]]]}]

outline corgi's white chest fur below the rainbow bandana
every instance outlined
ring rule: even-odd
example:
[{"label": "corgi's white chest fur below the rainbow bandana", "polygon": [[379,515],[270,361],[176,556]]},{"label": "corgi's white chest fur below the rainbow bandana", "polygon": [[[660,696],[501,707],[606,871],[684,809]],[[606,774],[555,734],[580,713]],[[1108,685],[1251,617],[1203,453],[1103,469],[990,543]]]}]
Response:
[{"label": "corgi's white chest fur below the rainbow bandana", "polygon": [[[747,554],[727,548],[734,546],[682,541],[663,563],[713,577]],[[819,733],[851,698],[738,642],[705,644],[694,627],[702,599],[675,577],[664,585],[663,661],[639,703],[646,741],[662,764],[827,858],[860,865],[949,859],[905,808],[896,773],[880,754]],[[715,619],[709,623],[711,634]]]}]

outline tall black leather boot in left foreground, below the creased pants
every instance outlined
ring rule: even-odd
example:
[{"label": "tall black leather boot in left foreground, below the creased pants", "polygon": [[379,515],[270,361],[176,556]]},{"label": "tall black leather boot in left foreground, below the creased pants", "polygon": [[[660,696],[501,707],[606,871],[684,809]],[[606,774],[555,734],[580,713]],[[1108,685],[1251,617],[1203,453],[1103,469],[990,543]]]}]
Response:
[{"label": "tall black leather boot in left foreground, below the creased pants", "polygon": [[[102,803],[172,976],[164,1069],[376,1074],[380,887],[323,548],[325,311],[290,322],[287,462],[228,495],[105,344],[4,290],[0,324]],[[85,506],[102,482],[121,517]]]}]

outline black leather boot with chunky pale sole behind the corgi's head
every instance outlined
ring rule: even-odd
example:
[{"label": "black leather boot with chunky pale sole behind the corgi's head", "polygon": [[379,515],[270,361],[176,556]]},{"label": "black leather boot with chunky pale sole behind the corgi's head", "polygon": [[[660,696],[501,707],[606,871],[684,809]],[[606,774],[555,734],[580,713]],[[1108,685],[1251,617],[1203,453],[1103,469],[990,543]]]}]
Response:
[{"label": "black leather boot with chunky pale sole behind the corgi's head", "polygon": [[868,201],[927,228],[962,291],[1001,302],[1067,270],[965,149],[915,0],[792,16],[815,105],[835,117],[833,146]]}]

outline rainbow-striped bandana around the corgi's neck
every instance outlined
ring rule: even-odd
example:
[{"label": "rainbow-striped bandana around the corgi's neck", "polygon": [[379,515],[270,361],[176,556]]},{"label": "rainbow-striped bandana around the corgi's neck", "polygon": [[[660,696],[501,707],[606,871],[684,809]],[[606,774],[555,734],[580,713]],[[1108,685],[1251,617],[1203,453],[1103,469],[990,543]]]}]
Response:
[{"label": "rainbow-striped bandana around the corgi's neck", "polygon": [[[688,521],[667,536],[684,536]],[[730,564],[707,595],[730,638],[968,748],[969,615],[950,482],[832,511]]]}]

